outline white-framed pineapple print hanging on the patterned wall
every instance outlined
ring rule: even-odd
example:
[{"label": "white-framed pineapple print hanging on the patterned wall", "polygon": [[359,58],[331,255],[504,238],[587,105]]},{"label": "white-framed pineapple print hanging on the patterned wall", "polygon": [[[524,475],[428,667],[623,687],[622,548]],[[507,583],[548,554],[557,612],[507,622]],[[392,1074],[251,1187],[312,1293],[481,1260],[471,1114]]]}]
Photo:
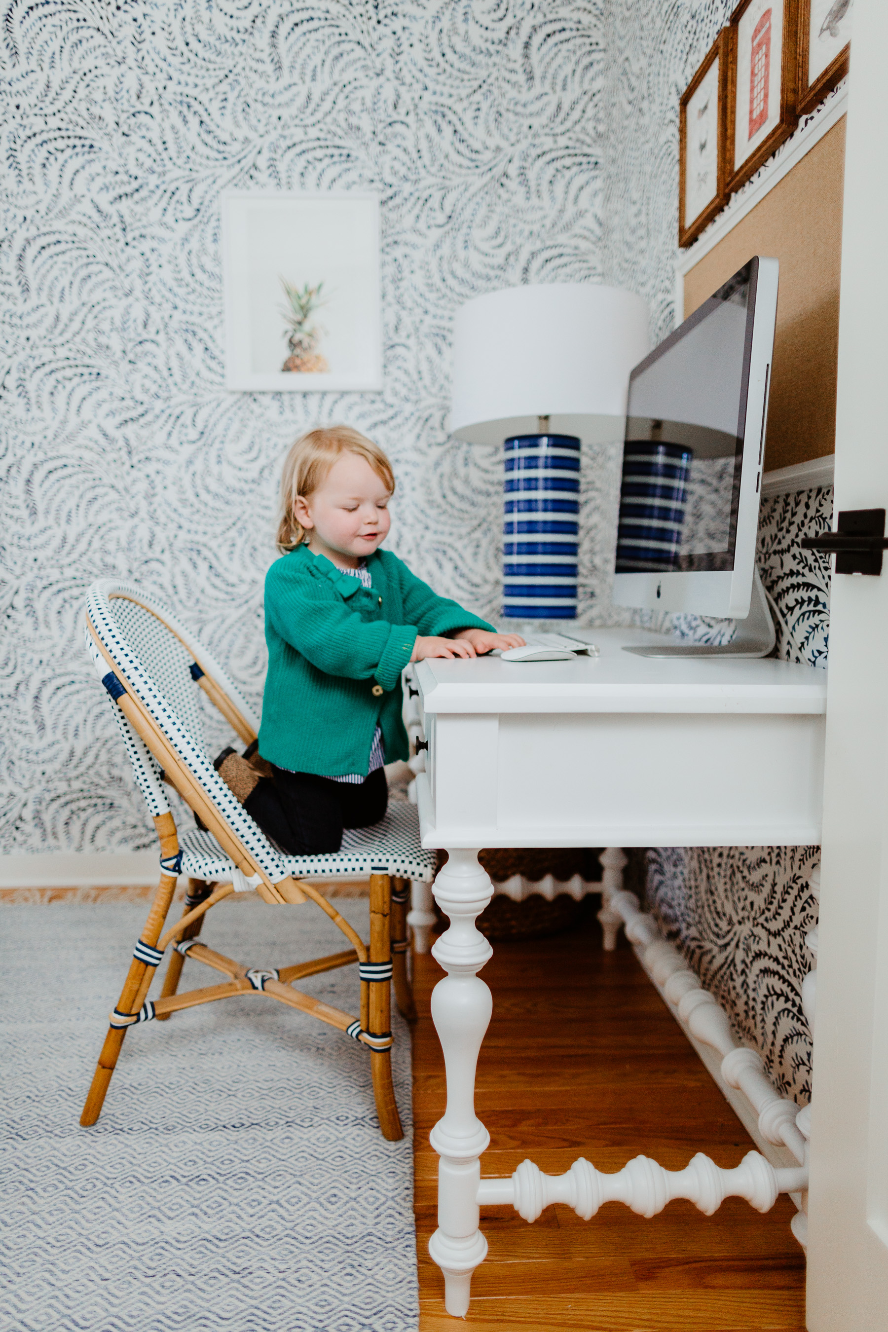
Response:
[{"label": "white-framed pineapple print hanging on the patterned wall", "polygon": [[228,389],[382,389],[377,196],[222,194],[222,277]]}]

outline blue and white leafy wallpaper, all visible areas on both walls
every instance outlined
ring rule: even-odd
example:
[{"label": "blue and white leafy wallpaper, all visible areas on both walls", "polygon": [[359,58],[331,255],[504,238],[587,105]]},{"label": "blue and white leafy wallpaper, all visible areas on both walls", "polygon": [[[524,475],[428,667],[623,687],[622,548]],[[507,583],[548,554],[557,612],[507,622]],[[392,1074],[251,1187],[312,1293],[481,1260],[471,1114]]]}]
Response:
[{"label": "blue and white leafy wallpaper, all visible areas on both walls", "polygon": [[[606,281],[674,322],[678,99],[724,0],[7,3],[0,249],[0,840],[129,851],[153,834],[83,649],[88,585],[142,583],[249,697],[284,450],[347,421],[398,476],[393,549],[499,605],[499,450],[447,430],[450,329],[519,282]],[[224,389],[220,197],[373,190],[379,394]],[[542,336],[539,330],[529,337]],[[583,456],[580,622],[610,605],[619,445]],[[825,665],[829,492],[763,505],[781,657]],[[695,638],[723,626],[680,618]],[[763,755],[767,762],[767,755]],[[805,1100],[812,848],[650,852],[663,926]]]}]

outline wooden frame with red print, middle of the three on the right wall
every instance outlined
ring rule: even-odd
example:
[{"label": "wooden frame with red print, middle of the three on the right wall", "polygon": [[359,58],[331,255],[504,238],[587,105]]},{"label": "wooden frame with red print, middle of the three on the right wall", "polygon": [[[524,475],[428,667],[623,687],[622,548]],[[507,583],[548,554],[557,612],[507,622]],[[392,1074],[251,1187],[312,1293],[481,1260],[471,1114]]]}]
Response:
[{"label": "wooden frame with red print, middle of the three on the right wall", "polygon": [[[771,60],[775,35],[779,60]],[[732,194],[799,123],[799,0],[740,0],[728,23],[727,190]]]}]

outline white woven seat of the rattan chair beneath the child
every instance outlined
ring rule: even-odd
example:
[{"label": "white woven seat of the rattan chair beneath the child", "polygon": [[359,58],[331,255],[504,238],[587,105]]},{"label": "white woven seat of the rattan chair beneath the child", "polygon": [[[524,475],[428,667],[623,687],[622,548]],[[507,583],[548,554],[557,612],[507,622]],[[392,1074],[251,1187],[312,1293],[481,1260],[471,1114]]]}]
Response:
[{"label": "white woven seat of the rattan chair beneath the child", "polygon": [[[193,879],[232,876],[234,864],[212,832],[189,829],[182,832],[178,844],[182,850],[182,874]],[[342,847],[335,855],[288,855],[282,859],[293,878],[357,879],[375,872],[431,883],[437,852],[423,850],[419,842],[415,806],[393,801],[379,823],[367,829],[346,829]]]}]

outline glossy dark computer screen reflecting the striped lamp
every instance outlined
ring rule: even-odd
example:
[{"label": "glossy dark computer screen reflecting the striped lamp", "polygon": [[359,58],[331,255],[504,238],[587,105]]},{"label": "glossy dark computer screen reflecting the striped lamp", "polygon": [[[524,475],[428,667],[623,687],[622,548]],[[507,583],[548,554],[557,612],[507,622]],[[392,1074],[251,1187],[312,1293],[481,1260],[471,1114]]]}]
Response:
[{"label": "glossy dark computer screen reflecting the striped lamp", "polygon": [[734,569],[756,264],[631,373],[618,574]]}]

